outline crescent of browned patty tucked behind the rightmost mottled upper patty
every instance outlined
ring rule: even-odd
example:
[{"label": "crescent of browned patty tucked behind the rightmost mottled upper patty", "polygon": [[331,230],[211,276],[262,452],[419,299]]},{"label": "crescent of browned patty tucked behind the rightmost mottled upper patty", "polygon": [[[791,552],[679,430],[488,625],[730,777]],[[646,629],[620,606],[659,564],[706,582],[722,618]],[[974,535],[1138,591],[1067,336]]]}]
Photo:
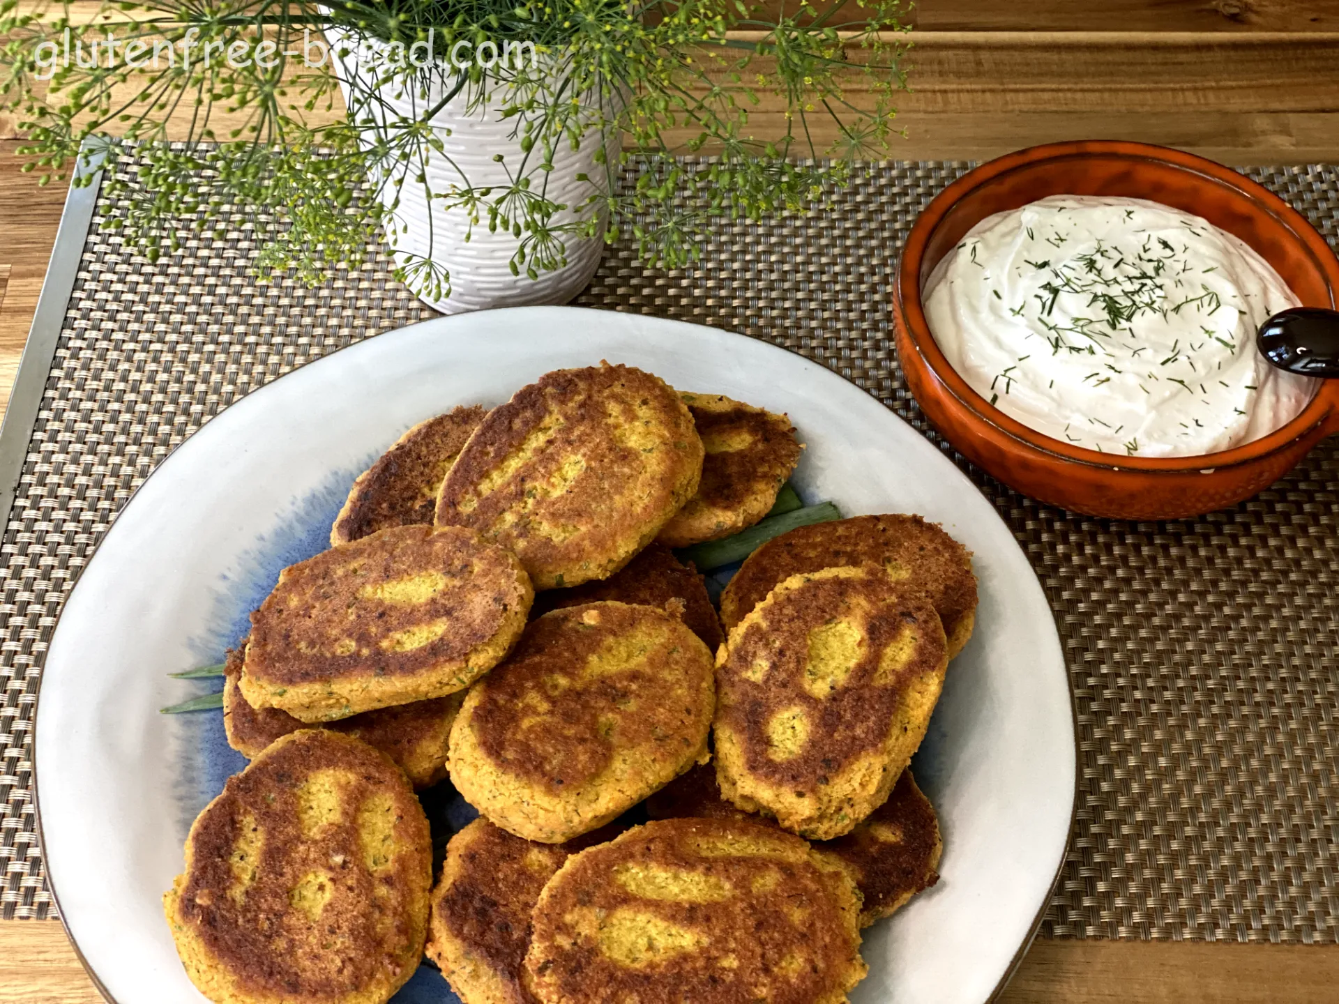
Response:
[{"label": "crescent of browned patty tucked behind the rightmost mottled upper patty", "polygon": [[857,515],[801,526],[769,541],[744,561],[720,594],[726,631],[742,621],[778,582],[801,572],[870,561],[927,593],[948,636],[948,657],[963,651],[976,620],[972,554],[939,523],[919,515]]}]

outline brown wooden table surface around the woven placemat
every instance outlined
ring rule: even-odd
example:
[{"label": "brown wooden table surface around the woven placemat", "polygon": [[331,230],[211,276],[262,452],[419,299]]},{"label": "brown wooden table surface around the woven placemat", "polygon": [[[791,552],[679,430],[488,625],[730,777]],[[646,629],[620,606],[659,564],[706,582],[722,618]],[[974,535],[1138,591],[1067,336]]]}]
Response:
[{"label": "brown wooden table surface around the woven placemat", "polygon": [[[1339,162],[1339,0],[924,0],[897,159],[1121,138]],[[762,111],[766,114],[766,110]],[[64,201],[0,112],[0,408]],[[1334,1001],[1339,945],[1038,940],[1006,1001]],[[99,1000],[59,924],[0,921],[0,1004]]]}]

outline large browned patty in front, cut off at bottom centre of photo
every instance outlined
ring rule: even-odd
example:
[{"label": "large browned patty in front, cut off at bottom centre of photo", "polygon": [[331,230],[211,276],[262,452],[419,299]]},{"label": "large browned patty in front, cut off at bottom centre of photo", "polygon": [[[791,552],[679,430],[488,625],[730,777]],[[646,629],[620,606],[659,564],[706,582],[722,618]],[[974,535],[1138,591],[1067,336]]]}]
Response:
[{"label": "large browned patty in front, cut off at bottom centre of photo", "polygon": [[568,858],[525,958],[542,1004],[837,1004],[865,976],[860,897],[805,841],[667,819]]}]

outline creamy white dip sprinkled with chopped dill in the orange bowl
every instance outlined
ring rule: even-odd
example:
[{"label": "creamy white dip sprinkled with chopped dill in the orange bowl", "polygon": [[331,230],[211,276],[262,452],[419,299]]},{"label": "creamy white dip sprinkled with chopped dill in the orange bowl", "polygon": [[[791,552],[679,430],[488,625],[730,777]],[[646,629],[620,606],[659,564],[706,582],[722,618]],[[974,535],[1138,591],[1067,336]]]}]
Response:
[{"label": "creamy white dip sprinkled with chopped dill in the orange bowl", "polygon": [[1269,264],[1157,202],[1052,195],[987,217],[923,299],[972,390],[1089,450],[1228,450],[1296,418],[1318,386],[1256,351],[1260,324],[1297,305]]}]

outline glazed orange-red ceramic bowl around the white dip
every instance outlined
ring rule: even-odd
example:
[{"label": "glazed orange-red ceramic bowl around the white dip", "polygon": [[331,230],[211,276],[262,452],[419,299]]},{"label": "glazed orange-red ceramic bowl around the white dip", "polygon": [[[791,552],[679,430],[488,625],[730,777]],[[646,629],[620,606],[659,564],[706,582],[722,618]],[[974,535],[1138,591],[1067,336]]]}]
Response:
[{"label": "glazed orange-red ceramic bowl around the white dip", "polygon": [[1213,161],[1125,142],[1051,143],[1000,157],[964,174],[921,213],[893,290],[907,386],[964,456],[1006,485],[1077,513],[1174,519],[1255,495],[1339,431],[1339,380],[1322,383],[1297,418],[1264,439],[1197,456],[1114,458],[1051,439],[991,407],[940,352],[921,289],[979,221],[1046,195],[1126,195],[1194,213],[1255,248],[1304,305],[1334,309],[1339,297],[1339,258],[1315,228],[1277,195]]}]

